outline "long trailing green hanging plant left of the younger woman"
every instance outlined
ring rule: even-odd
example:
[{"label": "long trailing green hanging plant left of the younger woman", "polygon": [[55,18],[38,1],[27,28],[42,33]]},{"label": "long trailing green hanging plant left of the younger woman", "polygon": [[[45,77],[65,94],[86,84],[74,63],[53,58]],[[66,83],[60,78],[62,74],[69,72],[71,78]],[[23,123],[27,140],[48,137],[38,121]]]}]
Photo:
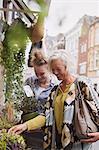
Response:
[{"label": "long trailing green hanging plant left of the younger woman", "polygon": [[5,68],[5,99],[13,101],[20,109],[20,100],[23,97],[23,69],[25,63],[25,50],[29,41],[25,24],[16,19],[5,32],[3,50],[1,50],[1,63]]}]

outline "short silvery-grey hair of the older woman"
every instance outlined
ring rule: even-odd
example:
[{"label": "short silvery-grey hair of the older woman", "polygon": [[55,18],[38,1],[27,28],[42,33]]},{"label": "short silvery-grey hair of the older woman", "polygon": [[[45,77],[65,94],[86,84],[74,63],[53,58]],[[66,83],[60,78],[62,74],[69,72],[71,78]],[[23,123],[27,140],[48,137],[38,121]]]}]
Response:
[{"label": "short silvery-grey hair of the older woman", "polygon": [[72,65],[70,61],[71,57],[70,54],[68,54],[65,49],[53,50],[53,53],[49,57],[50,69],[51,69],[51,62],[55,59],[61,59],[64,62],[64,65],[67,67],[68,71],[70,72],[70,67]]}]

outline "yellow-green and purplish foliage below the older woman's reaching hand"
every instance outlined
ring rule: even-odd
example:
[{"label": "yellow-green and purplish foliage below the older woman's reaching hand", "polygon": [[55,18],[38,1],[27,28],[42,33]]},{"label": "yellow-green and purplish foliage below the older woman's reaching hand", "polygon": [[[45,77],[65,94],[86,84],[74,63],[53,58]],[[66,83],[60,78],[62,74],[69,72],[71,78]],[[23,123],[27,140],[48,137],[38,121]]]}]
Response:
[{"label": "yellow-green and purplish foliage below the older woman's reaching hand", "polygon": [[7,133],[2,130],[0,133],[0,150],[25,150],[25,142],[22,136]]}]

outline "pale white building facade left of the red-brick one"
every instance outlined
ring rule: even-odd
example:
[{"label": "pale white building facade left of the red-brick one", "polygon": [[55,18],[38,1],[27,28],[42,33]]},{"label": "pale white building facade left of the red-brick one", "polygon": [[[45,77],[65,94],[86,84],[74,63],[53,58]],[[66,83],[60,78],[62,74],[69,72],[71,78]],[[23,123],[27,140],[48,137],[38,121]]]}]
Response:
[{"label": "pale white building facade left of the red-brick one", "polygon": [[71,72],[73,74],[77,74],[78,42],[79,42],[79,37],[81,35],[81,26],[82,26],[82,20],[77,22],[77,24],[65,35],[66,51],[70,55]]}]

